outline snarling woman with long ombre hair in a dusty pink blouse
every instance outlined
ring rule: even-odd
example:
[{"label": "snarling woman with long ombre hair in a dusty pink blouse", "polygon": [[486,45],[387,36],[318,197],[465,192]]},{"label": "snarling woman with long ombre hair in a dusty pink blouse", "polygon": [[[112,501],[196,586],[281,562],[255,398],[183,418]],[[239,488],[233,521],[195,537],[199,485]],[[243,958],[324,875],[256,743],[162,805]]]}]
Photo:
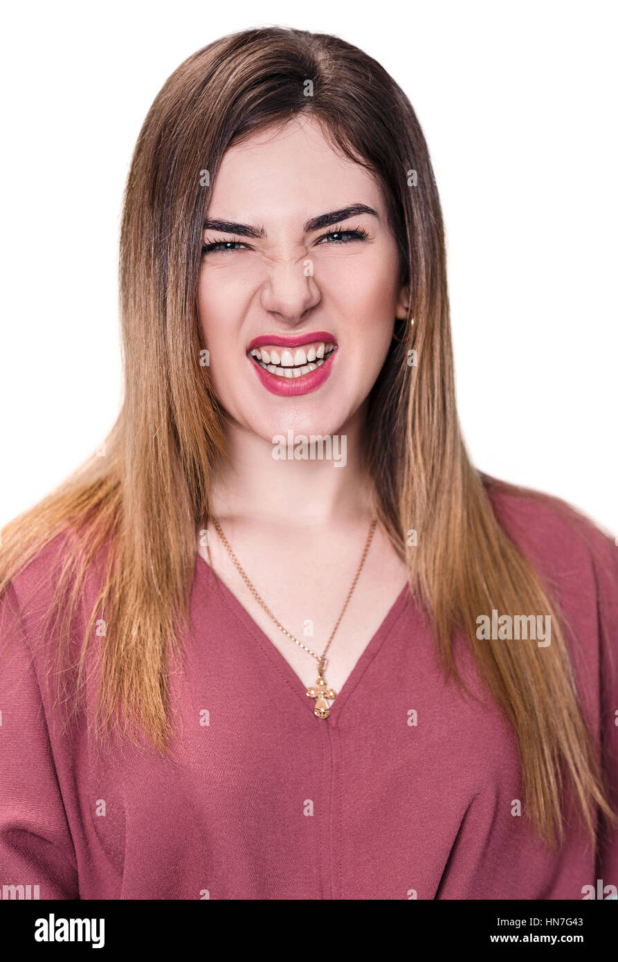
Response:
[{"label": "snarling woman with long ombre hair in a dusty pink blouse", "polygon": [[4,532],[2,881],[611,896],[616,548],[468,459],[394,81],[283,28],[182,63],[133,158],[120,302],[110,437]]}]

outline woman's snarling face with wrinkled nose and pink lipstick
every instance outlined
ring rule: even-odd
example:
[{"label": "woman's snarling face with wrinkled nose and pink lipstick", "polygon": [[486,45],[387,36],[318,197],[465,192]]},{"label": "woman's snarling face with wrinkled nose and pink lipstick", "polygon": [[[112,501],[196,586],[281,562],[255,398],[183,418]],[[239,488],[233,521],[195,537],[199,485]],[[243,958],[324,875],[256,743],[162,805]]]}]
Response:
[{"label": "woman's snarling face with wrinkled nose and pink lipstick", "polygon": [[[346,211],[358,205],[370,210]],[[227,415],[268,441],[342,433],[406,316],[372,175],[314,120],[294,119],[227,150],[203,242],[216,246],[202,256],[198,315]]]}]

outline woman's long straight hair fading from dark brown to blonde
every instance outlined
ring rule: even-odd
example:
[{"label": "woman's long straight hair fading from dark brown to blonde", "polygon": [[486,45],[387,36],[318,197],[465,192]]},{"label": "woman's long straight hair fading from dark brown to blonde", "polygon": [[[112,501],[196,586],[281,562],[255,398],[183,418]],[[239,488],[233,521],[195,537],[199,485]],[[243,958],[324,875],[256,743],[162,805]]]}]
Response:
[{"label": "woman's long straight hair fading from dark brown to blonde", "polygon": [[[471,465],[457,420],[443,221],[425,138],[386,71],[340,38],[280,27],[224,37],[182,63],[155,98],[124,197],[122,407],[104,456],[94,454],[5,527],[0,592],[45,544],[68,533],[57,586],[62,656],[86,572],[105,548],[78,687],[105,612],[97,734],[116,730],[138,744],[141,728],[167,754],[170,658],[188,625],[211,472],[226,456],[217,398],[200,364],[196,314],[208,181],[232,142],[295,114],[311,114],[333,149],[377,177],[401,280],[410,284],[409,316],[397,323],[370,396],[366,443],[379,519],[407,561],[412,595],[432,620],[445,671],[463,684],[452,651],[453,633],[463,632],[512,724],[526,810],[540,835],[552,847],[563,838],[566,775],[594,838],[595,805],[609,820],[612,812],[555,599],[498,522],[491,479]],[[416,365],[407,363],[410,351]],[[409,544],[410,530],[417,544]],[[552,645],[479,642],[476,618],[493,609],[553,616]]]}]

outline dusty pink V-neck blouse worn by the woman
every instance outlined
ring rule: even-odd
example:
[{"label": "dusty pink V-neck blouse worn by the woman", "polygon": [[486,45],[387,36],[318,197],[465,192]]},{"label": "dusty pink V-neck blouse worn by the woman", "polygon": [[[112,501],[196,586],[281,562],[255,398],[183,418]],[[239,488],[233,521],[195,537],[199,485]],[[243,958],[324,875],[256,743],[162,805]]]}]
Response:
[{"label": "dusty pink V-neck blouse worn by the woman", "polygon": [[[618,806],[618,547],[579,516],[574,528],[528,499],[492,498],[558,592]],[[198,556],[186,661],[171,673],[174,758],[95,747],[91,676],[88,717],[66,738],[49,674],[55,635],[41,633],[62,554],[58,538],[0,602],[3,899],[19,886],[40,899],[582,899],[598,879],[618,884],[618,835],[600,828],[598,856],[577,825],[557,854],[537,839],[512,733],[460,640],[481,703],[445,684],[407,589],[323,721]]]}]

